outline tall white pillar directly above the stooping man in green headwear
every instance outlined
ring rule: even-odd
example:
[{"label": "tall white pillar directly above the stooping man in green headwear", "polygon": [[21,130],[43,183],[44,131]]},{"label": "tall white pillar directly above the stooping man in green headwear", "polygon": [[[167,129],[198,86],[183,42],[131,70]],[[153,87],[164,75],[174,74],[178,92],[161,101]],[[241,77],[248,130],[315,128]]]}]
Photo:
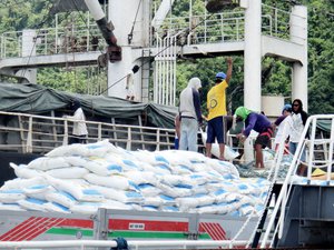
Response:
[{"label": "tall white pillar directly above the stooping man in green headwear", "polygon": [[244,104],[261,111],[261,0],[248,0],[245,12]]}]

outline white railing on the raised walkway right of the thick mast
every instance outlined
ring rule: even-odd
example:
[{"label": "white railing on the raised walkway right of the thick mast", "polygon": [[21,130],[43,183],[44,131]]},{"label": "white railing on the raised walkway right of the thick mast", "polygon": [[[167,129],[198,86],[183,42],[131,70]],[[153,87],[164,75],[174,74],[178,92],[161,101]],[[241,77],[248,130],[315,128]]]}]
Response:
[{"label": "white railing on the raised walkway right of the thick mast", "polygon": [[[291,16],[288,11],[262,4],[262,33],[284,40],[291,39]],[[160,21],[163,26],[156,30],[156,36],[165,38],[180,30],[188,33],[179,36],[178,43],[204,44],[218,42],[243,41],[245,33],[245,11],[225,11],[220,13],[193,14],[171,17]],[[186,38],[185,38],[186,36]]]}]

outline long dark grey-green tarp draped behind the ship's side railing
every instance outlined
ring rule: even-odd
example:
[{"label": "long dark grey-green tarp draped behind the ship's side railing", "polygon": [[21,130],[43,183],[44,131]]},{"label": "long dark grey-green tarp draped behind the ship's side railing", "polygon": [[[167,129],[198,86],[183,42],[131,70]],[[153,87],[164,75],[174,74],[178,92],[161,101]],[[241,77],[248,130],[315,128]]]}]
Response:
[{"label": "long dark grey-green tarp draped behind the ship's side railing", "polygon": [[105,96],[77,94],[58,91],[39,84],[0,83],[0,110],[41,114],[67,108],[78,99],[87,116],[107,118],[138,118],[146,116],[149,123],[158,128],[174,128],[176,107],[132,102]]}]

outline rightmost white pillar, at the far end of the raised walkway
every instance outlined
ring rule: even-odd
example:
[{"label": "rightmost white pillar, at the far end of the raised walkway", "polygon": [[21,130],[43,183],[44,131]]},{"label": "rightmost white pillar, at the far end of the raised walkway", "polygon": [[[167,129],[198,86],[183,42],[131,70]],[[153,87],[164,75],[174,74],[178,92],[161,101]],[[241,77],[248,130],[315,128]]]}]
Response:
[{"label": "rightmost white pillar, at the far end of the raised walkway", "polygon": [[294,62],[292,76],[292,99],[301,99],[307,111],[307,8],[294,6],[291,13],[291,41],[304,47],[302,62]]}]

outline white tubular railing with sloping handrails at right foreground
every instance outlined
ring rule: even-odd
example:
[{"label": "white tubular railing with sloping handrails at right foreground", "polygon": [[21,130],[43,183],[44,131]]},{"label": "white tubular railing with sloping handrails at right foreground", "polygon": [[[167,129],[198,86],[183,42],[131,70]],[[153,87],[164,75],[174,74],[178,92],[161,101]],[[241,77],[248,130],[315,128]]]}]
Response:
[{"label": "white tubular railing with sloping handrails at right foreground", "polygon": [[[320,132],[317,123],[320,121],[327,121],[331,124],[330,132],[326,132],[324,137],[323,132]],[[308,136],[310,134],[310,136]],[[321,136],[320,136],[321,134]],[[281,152],[283,151],[284,143],[281,143]],[[320,151],[318,148],[323,148]],[[285,219],[285,209],[287,201],[292,191],[293,184],[305,184],[303,181],[306,178],[306,184],[313,186],[333,186],[331,181],[333,178],[332,167],[334,164],[334,114],[316,114],[307,119],[303,133],[301,136],[299,142],[297,144],[296,152],[293,157],[292,163],[288,168],[286,178],[282,184],[279,196],[276,199],[275,207],[268,219],[266,231],[263,237],[263,243],[261,248],[265,248],[264,242],[271,241],[271,247],[274,246],[275,237],[278,239],[283,236],[284,219]],[[306,153],[306,162],[303,162],[302,154],[304,151]],[[303,174],[303,170],[306,168],[306,177],[297,177]],[[315,169],[322,169],[324,171],[323,181],[316,182],[313,181],[315,178],[312,177],[312,173]],[[299,178],[299,180],[298,180]],[[316,178],[317,179],[317,178]],[[301,182],[302,180],[302,182]],[[278,221],[278,222],[277,222]],[[275,224],[275,222],[277,222]],[[275,224],[275,227],[274,227]],[[274,233],[273,232],[274,229]],[[271,239],[269,239],[271,238]]]}]

